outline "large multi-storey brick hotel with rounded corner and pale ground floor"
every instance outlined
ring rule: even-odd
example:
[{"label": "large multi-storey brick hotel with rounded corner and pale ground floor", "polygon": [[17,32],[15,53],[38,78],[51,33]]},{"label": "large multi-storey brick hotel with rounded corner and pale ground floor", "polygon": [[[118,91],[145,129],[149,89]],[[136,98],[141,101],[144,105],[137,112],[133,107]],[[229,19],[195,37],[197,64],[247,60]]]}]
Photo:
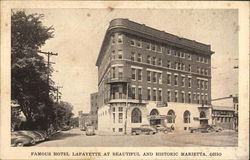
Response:
[{"label": "large multi-storey brick hotel with rounded corner and pale ground floor", "polygon": [[96,62],[98,130],[211,124],[210,45],[128,19],[110,22]]}]

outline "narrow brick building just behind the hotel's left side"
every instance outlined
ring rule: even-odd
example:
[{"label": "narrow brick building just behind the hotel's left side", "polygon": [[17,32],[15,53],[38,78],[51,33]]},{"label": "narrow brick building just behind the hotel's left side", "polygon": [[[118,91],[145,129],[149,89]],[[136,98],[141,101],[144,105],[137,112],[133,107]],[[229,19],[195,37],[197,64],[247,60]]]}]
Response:
[{"label": "narrow brick building just behind the hotel's left side", "polygon": [[95,129],[98,129],[98,92],[92,93],[90,95],[90,116],[91,116],[91,124],[95,127]]}]

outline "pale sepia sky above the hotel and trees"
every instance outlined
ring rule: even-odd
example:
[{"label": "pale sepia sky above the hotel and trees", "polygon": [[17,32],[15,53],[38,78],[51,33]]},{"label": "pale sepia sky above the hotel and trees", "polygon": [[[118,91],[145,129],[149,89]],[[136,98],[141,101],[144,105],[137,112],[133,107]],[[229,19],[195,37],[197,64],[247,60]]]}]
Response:
[{"label": "pale sepia sky above the hotel and trees", "polygon": [[158,30],[210,44],[212,99],[238,93],[238,13],[231,9],[25,9],[44,14],[43,24],[53,26],[54,38],[41,48],[58,53],[51,61],[52,79],[63,101],[78,111],[90,111],[90,94],[97,92],[95,66],[109,22],[115,18],[145,24]]}]

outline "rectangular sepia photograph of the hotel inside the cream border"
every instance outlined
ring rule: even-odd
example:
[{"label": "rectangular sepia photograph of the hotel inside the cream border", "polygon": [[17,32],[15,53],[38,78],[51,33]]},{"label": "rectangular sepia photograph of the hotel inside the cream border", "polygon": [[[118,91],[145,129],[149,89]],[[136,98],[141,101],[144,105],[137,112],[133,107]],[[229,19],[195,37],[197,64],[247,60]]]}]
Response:
[{"label": "rectangular sepia photograph of the hotel inside the cream border", "polygon": [[13,9],[11,145],[236,147],[238,54],[233,9]]}]

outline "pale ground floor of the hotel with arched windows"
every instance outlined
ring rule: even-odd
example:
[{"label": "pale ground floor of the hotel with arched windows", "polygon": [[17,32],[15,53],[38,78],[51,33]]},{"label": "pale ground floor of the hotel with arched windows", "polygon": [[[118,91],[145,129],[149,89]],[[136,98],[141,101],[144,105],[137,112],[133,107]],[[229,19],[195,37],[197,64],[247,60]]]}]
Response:
[{"label": "pale ground floor of the hotel with arched windows", "polygon": [[131,134],[141,125],[162,125],[175,132],[189,132],[191,127],[212,124],[211,107],[200,104],[158,102],[105,105],[98,110],[98,130],[103,134]]}]

